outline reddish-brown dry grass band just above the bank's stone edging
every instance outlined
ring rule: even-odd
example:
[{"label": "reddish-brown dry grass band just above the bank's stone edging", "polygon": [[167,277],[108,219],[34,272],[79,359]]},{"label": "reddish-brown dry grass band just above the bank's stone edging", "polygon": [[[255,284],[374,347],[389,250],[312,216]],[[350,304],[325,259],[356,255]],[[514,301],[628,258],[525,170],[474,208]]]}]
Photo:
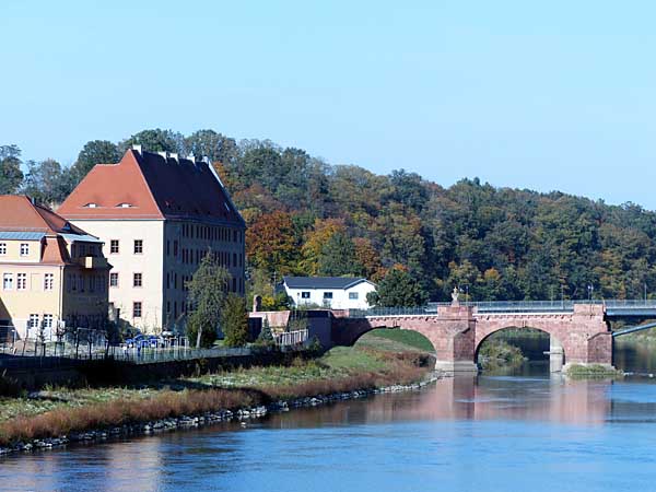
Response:
[{"label": "reddish-brown dry grass band just above the bank's stone edging", "polygon": [[[309,376],[308,378],[298,377],[295,383],[291,383],[289,378],[260,378],[259,382],[246,384],[242,388],[212,387],[219,386],[220,379],[214,382],[212,376],[206,376],[201,379],[204,379],[202,384],[209,384],[207,389],[163,389],[139,399],[120,397],[81,406],[58,407],[34,415],[14,417],[0,423],[0,444],[57,437],[72,432],[202,414],[209,411],[235,410],[280,399],[410,384],[425,374],[425,368],[419,366],[422,365],[421,354],[379,352],[370,348],[363,351],[372,360],[384,361],[383,368],[367,371],[361,367],[342,367],[338,371],[329,366],[321,368],[324,366],[316,362],[298,362],[285,371],[292,374],[307,373],[305,376]],[[377,367],[375,364],[372,367],[374,366]],[[268,374],[273,370],[266,368],[265,372]],[[249,371],[257,372],[258,368]]]}]

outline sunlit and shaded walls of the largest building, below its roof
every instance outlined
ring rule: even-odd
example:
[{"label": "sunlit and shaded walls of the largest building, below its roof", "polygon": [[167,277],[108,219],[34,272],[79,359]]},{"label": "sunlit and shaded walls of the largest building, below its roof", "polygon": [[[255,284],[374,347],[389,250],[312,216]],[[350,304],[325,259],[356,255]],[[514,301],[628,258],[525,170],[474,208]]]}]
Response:
[{"label": "sunlit and shaded walls of the largest building, below its roof", "polygon": [[[105,243],[109,306],[117,318],[144,332],[180,328],[187,313],[185,283],[202,256],[213,251],[244,293],[244,232],[234,224],[208,226],[192,221],[71,220]],[[116,250],[118,247],[118,251]]]}]

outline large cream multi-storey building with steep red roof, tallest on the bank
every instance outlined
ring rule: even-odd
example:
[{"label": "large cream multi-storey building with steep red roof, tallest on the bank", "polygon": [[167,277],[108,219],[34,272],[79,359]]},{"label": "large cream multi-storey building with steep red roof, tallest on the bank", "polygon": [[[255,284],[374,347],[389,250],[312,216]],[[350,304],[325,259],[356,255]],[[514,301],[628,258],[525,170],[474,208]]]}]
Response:
[{"label": "large cream multi-storey building with steep red roof, tallest on the bank", "polygon": [[186,281],[211,251],[244,293],[245,230],[214,168],[194,157],[128,150],[98,164],[58,209],[105,243],[115,315],[148,332],[179,329]]}]

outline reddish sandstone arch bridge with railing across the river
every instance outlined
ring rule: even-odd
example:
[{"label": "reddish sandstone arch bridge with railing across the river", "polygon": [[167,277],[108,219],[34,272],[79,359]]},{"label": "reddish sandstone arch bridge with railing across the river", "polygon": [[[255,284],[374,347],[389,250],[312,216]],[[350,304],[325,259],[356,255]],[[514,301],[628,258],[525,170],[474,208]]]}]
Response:
[{"label": "reddish sandstone arch bridge with railing across the river", "polygon": [[535,328],[551,338],[552,371],[567,364],[612,365],[614,336],[655,327],[643,325],[612,333],[617,318],[656,318],[656,301],[501,302],[433,304],[420,309],[333,312],[332,340],[351,345],[375,328],[414,330],[435,348],[436,368],[477,371],[481,343],[505,328]]}]

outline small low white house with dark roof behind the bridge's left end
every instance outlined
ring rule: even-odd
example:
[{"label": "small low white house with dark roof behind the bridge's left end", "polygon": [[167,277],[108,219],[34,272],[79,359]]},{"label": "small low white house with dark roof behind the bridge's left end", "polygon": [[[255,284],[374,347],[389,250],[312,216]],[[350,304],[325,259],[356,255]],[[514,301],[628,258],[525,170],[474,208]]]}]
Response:
[{"label": "small low white house with dark roof behind the bridge's left end", "polygon": [[283,286],[295,306],[333,309],[368,309],[366,294],[376,291],[375,283],[354,277],[285,277]]}]

